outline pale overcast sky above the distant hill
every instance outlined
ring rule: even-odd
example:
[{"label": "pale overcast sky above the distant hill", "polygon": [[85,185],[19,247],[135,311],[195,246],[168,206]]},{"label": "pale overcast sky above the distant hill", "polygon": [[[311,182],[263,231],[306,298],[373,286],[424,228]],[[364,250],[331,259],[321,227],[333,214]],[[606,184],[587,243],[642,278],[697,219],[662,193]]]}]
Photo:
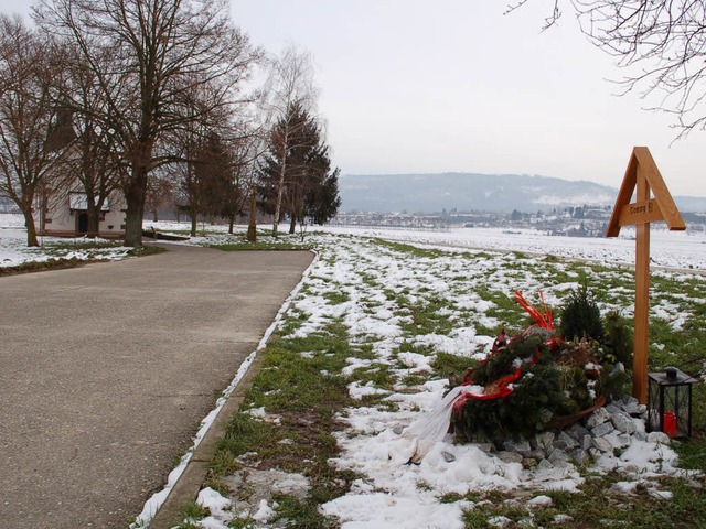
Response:
[{"label": "pale overcast sky above the distant hill", "polygon": [[[8,12],[26,10],[0,0]],[[706,132],[672,144],[670,116],[617,97],[613,58],[553,2],[233,0],[254,44],[317,62],[319,110],[343,173],[526,173],[619,187],[646,145],[674,195],[706,196]]]}]

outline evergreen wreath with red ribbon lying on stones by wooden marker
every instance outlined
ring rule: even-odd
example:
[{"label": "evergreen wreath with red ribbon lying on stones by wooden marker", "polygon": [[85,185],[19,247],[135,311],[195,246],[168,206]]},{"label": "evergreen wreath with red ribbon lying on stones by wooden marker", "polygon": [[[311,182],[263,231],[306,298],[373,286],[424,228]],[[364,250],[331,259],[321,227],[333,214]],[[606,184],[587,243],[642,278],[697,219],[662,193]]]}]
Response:
[{"label": "evergreen wreath with red ribbon lying on stones by wooden marker", "polygon": [[[613,376],[614,357],[596,341],[565,342],[546,305],[542,313],[522,294],[516,298],[537,323],[512,339],[503,330],[488,358],[466,374],[469,391],[454,402],[451,418],[460,439],[527,439],[597,406],[605,393],[614,392],[608,386],[624,381],[624,370],[622,378]],[[584,304],[588,299],[581,289],[573,298],[592,311]]]}]

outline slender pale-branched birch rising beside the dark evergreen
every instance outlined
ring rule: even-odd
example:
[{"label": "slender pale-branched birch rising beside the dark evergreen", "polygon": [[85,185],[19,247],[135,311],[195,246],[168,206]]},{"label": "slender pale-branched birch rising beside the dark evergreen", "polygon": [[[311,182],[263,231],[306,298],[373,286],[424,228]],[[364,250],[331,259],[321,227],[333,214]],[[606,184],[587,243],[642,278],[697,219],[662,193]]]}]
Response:
[{"label": "slender pale-branched birch rising beside the dark evergreen", "polygon": [[[280,56],[270,63],[270,74],[265,88],[265,106],[270,121],[287,123],[295,107],[308,112],[315,109],[318,90],[313,83],[313,57],[310,53],[295,45],[287,47]],[[286,126],[281,131],[281,149],[291,144],[289,137],[296,133],[297,125]],[[279,165],[276,168],[275,204],[272,235],[277,237],[277,226],[282,210],[282,194],[287,174],[287,152],[278,153]]]}]

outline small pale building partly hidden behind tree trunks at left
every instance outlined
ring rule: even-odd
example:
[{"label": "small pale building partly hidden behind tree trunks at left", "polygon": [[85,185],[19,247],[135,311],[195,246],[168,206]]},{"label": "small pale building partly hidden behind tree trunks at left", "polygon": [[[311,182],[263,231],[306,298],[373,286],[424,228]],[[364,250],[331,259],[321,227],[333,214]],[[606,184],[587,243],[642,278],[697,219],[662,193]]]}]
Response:
[{"label": "small pale building partly hidden behind tree trunks at left", "polygon": [[[88,233],[88,201],[81,191],[38,193],[35,216],[38,235],[82,237]],[[125,236],[127,206],[119,190],[108,195],[100,208],[98,237],[116,239]]]}]

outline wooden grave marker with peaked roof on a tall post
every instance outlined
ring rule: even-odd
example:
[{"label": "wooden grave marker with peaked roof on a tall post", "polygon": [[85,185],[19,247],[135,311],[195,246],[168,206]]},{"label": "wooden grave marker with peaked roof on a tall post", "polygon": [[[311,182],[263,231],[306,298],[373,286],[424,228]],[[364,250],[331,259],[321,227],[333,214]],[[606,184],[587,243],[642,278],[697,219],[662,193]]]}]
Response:
[{"label": "wooden grave marker with peaked roof on a tall post", "polygon": [[[637,187],[637,199],[630,203]],[[650,198],[650,192],[654,198]],[[606,237],[617,237],[621,226],[635,226],[635,313],[632,395],[648,402],[648,339],[650,335],[650,223],[665,220],[671,230],[684,230],[670,191],[646,147],[632,150]]]}]

